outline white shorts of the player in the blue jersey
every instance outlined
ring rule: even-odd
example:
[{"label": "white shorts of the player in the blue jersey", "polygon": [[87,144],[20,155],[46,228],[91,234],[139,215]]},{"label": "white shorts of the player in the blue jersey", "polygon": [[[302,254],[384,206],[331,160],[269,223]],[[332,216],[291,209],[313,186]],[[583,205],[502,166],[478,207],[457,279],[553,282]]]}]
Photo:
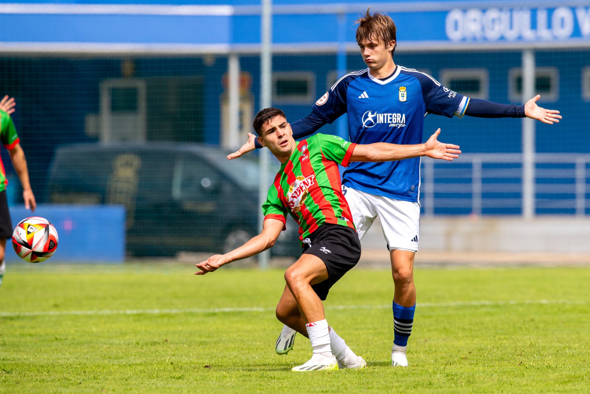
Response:
[{"label": "white shorts of the player in the blue jersey", "polygon": [[418,250],[420,237],[418,203],[377,196],[345,185],[342,185],[342,193],[352,211],[352,219],[359,239],[363,239],[375,218],[379,216],[389,250],[402,249],[412,252]]}]

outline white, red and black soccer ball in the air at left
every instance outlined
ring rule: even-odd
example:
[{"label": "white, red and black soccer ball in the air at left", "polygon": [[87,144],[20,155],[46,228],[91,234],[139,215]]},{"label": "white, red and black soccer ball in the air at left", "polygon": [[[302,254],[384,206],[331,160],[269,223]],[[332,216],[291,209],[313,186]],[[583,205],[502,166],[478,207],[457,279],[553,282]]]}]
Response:
[{"label": "white, red and black soccer ball in the air at left", "polygon": [[21,220],[12,233],[12,247],[19,258],[39,263],[50,258],[57,249],[57,231],[47,219],[33,216]]}]

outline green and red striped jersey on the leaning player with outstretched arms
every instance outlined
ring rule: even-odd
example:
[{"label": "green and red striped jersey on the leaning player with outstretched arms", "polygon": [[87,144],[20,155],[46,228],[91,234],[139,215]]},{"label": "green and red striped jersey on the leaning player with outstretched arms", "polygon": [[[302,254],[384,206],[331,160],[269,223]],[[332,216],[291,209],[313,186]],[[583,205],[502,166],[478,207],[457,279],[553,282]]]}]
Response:
[{"label": "green and red striped jersey on the leaning player with outstretched arms", "polygon": [[298,142],[268,190],[264,219],[286,223],[289,212],[299,224],[300,240],[324,223],[354,229],[338,164],[348,166],[355,146],[339,136],[319,133]]}]

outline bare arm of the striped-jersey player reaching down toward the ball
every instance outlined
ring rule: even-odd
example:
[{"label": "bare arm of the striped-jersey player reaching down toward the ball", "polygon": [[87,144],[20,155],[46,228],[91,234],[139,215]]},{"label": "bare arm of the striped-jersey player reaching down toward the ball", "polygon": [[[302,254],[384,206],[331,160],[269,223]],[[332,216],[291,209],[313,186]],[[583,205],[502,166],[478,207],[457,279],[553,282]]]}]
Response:
[{"label": "bare arm of the striped-jersey player reaching down toward the ball", "polygon": [[213,272],[222,265],[254,256],[263,250],[272,248],[274,243],[277,242],[281,231],[283,231],[283,226],[283,222],[277,219],[264,220],[262,232],[244,243],[240,248],[225,253],[225,255],[211,256],[207,260],[195,264],[196,268],[201,270],[195,272],[195,275],[205,275],[205,273]]}]

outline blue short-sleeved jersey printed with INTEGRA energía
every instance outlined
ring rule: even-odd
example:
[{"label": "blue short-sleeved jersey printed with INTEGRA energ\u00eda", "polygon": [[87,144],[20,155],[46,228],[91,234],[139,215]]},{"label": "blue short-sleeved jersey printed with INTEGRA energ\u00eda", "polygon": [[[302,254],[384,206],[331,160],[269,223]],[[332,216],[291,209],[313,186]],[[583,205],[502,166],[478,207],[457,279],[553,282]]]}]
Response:
[{"label": "blue short-sleeved jersey printed with INTEGRA energ\u00eda", "polygon": [[[461,117],[468,101],[428,74],[396,66],[386,80],[376,79],[369,69],[343,76],[317,100],[313,112],[328,123],[348,113],[350,141],[355,144],[422,144],[427,113]],[[342,184],[378,196],[418,202],[420,158],[352,162]]]}]

